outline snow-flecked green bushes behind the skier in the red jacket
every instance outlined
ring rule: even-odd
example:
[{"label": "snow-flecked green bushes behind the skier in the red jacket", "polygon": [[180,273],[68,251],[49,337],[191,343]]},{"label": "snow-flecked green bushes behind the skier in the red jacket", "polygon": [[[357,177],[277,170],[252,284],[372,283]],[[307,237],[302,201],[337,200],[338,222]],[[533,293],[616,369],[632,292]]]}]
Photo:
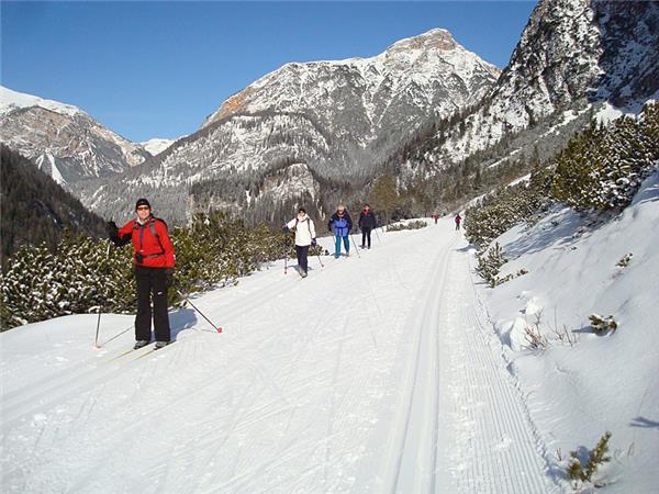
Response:
[{"label": "snow-flecked green bushes behind the skier in the red jacket", "polygon": [[[286,236],[265,226],[247,228],[223,213],[199,214],[190,227],[174,228],[175,283],[170,302],[222,283],[235,283],[268,260],[280,259]],[[55,251],[25,246],[0,276],[2,329],[86,312],[134,312],[132,246],[90,237],[65,238]]]}]

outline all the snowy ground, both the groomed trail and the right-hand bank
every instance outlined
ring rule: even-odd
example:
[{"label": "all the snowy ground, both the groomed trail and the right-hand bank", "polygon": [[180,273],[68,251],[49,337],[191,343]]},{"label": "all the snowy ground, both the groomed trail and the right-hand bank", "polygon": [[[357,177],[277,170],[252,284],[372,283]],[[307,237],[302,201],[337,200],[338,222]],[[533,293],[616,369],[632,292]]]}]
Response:
[{"label": "all the snowy ground, both the groomed trail and the right-hand bank", "polygon": [[[100,349],[94,314],[2,333],[3,491],[569,492],[558,457],[610,430],[603,492],[652,492],[657,183],[597,228],[555,211],[504,234],[505,272],[529,273],[495,289],[445,217],[196,296],[222,333],[174,311],[158,352],[122,356],[127,315],[102,315]],[[539,306],[578,343],[527,349]]]}]

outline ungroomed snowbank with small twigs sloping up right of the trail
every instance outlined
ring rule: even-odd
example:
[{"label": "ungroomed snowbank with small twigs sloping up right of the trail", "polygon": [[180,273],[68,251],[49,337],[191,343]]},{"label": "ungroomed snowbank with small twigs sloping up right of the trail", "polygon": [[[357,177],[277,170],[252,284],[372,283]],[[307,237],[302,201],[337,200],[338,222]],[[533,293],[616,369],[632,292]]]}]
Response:
[{"label": "ungroomed snowbank with small twigs sloping up right of the trail", "polygon": [[[556,209],[534,227],[515,227],[496,240],[511,259],[502,276],[528,270],[488,290],[511,371],[529,392],[549,451],[565,459],[570,450],[593,448],[606,430],[613,434],[615,460],[602,481],[614,484],[604,492],[655,492],[659,485],[657,224],[659,171],[613,221],[592,224]],[[618,266],[629,254],[628,266]],[[617,330],[594,335],[591,314],[613,315]],[[539,327],[548,350],[524,350],[526,327]],[[559,464],[556,457],[552,463]]]}]

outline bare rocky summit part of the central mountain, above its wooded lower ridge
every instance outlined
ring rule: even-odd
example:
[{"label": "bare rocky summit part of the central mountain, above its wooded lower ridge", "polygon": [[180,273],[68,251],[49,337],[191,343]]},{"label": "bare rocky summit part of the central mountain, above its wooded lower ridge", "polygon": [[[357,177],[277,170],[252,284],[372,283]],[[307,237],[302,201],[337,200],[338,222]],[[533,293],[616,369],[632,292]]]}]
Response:
[{"label": "bare rocky summit part of the central mountain, above its wooded lower ridge", "polygon": [[[447,88],[446,92],[470,91],[460,94],[455,105],[439,109],[442,113],[453,112],[462,101],[481,98],[484,87],[492,86],[499,74],[495,66],[459,45],[448,31],[435,29],[401,40],[370,58],[286,64],[230,97],[203,127],[231,115],[261,111],[302,111],[330,122],[340,109],[339,97],[355,98],[356,104],[368,106],[368,117],[377,122],[388,105],[373,102],[388,98],[391,90],[413,85],[421,88],[415,89],[418,103],[428,105],[438,86],[460,79],[461,89]],[[327,104],[328,99],[336,104]]]}]

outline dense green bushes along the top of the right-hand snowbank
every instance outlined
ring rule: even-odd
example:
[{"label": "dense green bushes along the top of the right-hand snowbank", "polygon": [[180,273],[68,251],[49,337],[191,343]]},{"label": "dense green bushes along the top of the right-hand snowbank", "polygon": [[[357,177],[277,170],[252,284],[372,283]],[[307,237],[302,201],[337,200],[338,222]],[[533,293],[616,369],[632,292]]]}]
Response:
[{"label": "dense green bushes along the top of the right-hand snowbank", "polygon": [[534,223],[555,201],[574,209],[623,209],[658,160],[659,103],[646,105],[639,120],[621,117],[610,127],[593,121],[527,183],[498,190],[468,209],[466,236],[487,245],[520,223]]}]

